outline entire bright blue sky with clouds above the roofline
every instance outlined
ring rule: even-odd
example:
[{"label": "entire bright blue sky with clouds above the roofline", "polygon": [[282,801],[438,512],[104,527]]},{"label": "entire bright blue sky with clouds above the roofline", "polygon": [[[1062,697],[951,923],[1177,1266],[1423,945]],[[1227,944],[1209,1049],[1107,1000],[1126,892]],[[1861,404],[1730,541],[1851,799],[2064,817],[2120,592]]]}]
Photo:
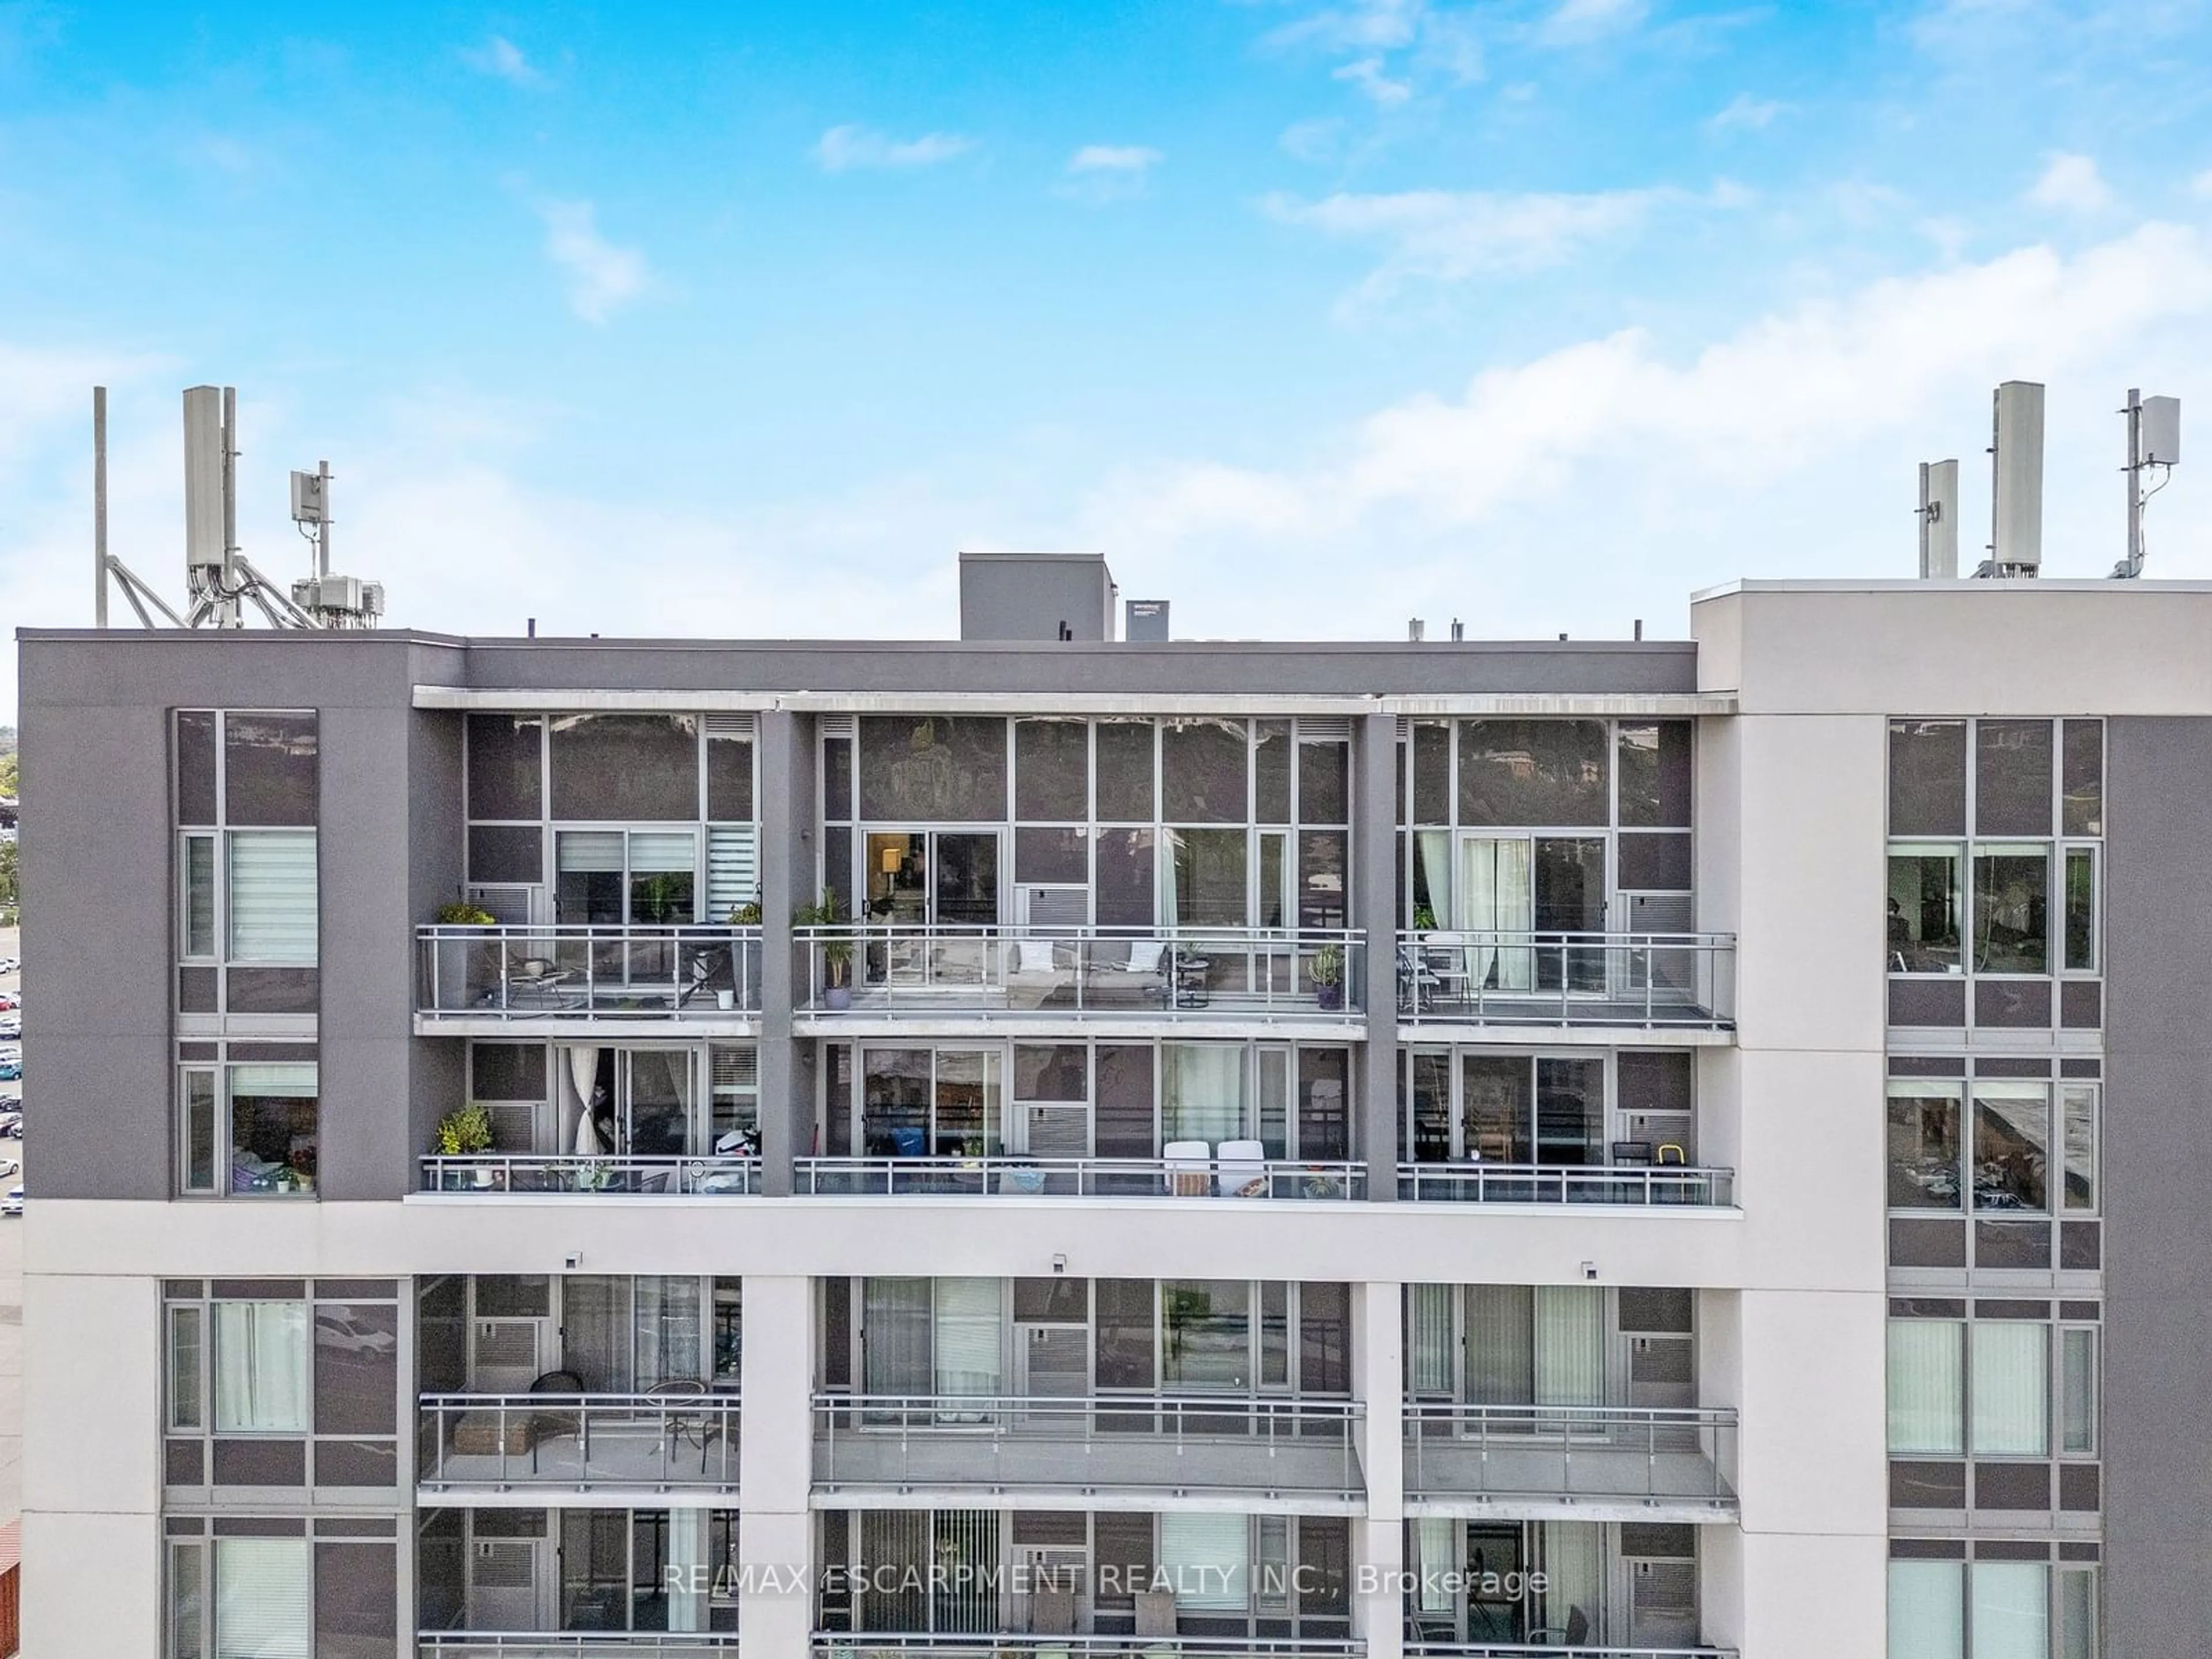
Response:
[{"label": "entire bright blue sky with clouds above the roofline", "polygon": [[1922,458],[1978,546],[2000,378],[2101,575],[2124,387],[2212,418],[2208,100],[2179,0],[4,4],[0,619],[88,619],[93,380],[159,584],[221,380],[248,553],[330,458],[449,630],[942,635],[1040,546],[1188,635],[1681,633],[1909,573]]}]

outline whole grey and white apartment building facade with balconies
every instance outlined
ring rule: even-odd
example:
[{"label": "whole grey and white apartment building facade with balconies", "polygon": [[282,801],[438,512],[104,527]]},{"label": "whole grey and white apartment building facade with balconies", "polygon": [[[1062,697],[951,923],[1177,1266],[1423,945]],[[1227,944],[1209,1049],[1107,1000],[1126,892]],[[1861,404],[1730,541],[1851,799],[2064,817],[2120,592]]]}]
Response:
[{"label": "whole grey and white apartment building facade with balconies", "polygon": [[22,635],[29,1650],[2194,1650],[2212,588],[964,575]]}]

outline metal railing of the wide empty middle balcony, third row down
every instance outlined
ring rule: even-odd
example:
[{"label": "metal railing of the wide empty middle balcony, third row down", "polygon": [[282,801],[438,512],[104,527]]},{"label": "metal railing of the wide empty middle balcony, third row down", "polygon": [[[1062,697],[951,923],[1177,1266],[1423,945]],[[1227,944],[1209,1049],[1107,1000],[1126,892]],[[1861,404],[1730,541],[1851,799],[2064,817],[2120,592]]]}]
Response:
[{"label": "metal railing of the wide empty middle balcony, third row down", "polygon": [[[814,1396],[814,1480],[816,1486],[841,1484],[916,1484],[929,1475],[911,1467],[914,1442],[960,1444],[958,1484],[1124,1484],[1124,1486],[1230,1486],[1267,1491],[1327,1491],[1358,1498],[1365,1486],[1358,1469],[1356,1427],[1367,1407],[1360,1400],[1312,1400],[1256,1394],[1095,1394],[1095,1396],[971,1396],[971,1394],[816,1394]],[[1009,1447],[1037,1442],[1082,1444],[1117,1451],[1144,1440],[1172,1447],[1172,1475],[1146,1480],[1135,1464],[1119,1471],[1088,1464],[1066,1464],[1064,1480],[1035,1480],[1004,1464]],[[865,1458],[854,1469],[838,1469],[838,1447],[856,1444]],[[865,1451],[858,1451],[865,1447]],[[887,1449],[896,1447],[896,1464],[885,1467]],[[1223,1469],[1230,1480],[1208,1482],[1183,1464],[1194,1447],[1245,1447],[1263,1460],[1265,1475],[1237,1467]],[[1338,1451],[1334,1484],[1314,1484],[1285,1471],[1276,1460],[1285,1451]],[[1254,1478],[1234,1478],[1254,1473]]]}]

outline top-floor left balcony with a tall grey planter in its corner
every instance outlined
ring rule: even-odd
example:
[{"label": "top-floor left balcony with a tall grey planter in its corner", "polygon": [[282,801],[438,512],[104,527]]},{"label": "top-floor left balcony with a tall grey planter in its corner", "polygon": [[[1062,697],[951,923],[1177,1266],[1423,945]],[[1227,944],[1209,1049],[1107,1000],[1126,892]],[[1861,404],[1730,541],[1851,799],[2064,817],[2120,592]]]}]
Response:
[{"label": "top-floor left balcony with a tall grey planter in its corner", "polygon": [[495,1035],[522,1020],[745,1031],[759,1011],[759,927],[416,929],[416,1024],[425,1031]]}]

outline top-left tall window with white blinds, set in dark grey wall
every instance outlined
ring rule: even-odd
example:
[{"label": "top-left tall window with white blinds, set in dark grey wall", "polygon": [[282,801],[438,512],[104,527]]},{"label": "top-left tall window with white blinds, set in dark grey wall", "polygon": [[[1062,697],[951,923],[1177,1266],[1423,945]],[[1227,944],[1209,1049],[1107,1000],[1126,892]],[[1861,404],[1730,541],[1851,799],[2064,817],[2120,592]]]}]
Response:
[{"label": "top-left tall window with white blinds, set in dark grey wall", "polygon": [[316,717],[184,708],[173,754],[177,1011],[312,1015]]}]

